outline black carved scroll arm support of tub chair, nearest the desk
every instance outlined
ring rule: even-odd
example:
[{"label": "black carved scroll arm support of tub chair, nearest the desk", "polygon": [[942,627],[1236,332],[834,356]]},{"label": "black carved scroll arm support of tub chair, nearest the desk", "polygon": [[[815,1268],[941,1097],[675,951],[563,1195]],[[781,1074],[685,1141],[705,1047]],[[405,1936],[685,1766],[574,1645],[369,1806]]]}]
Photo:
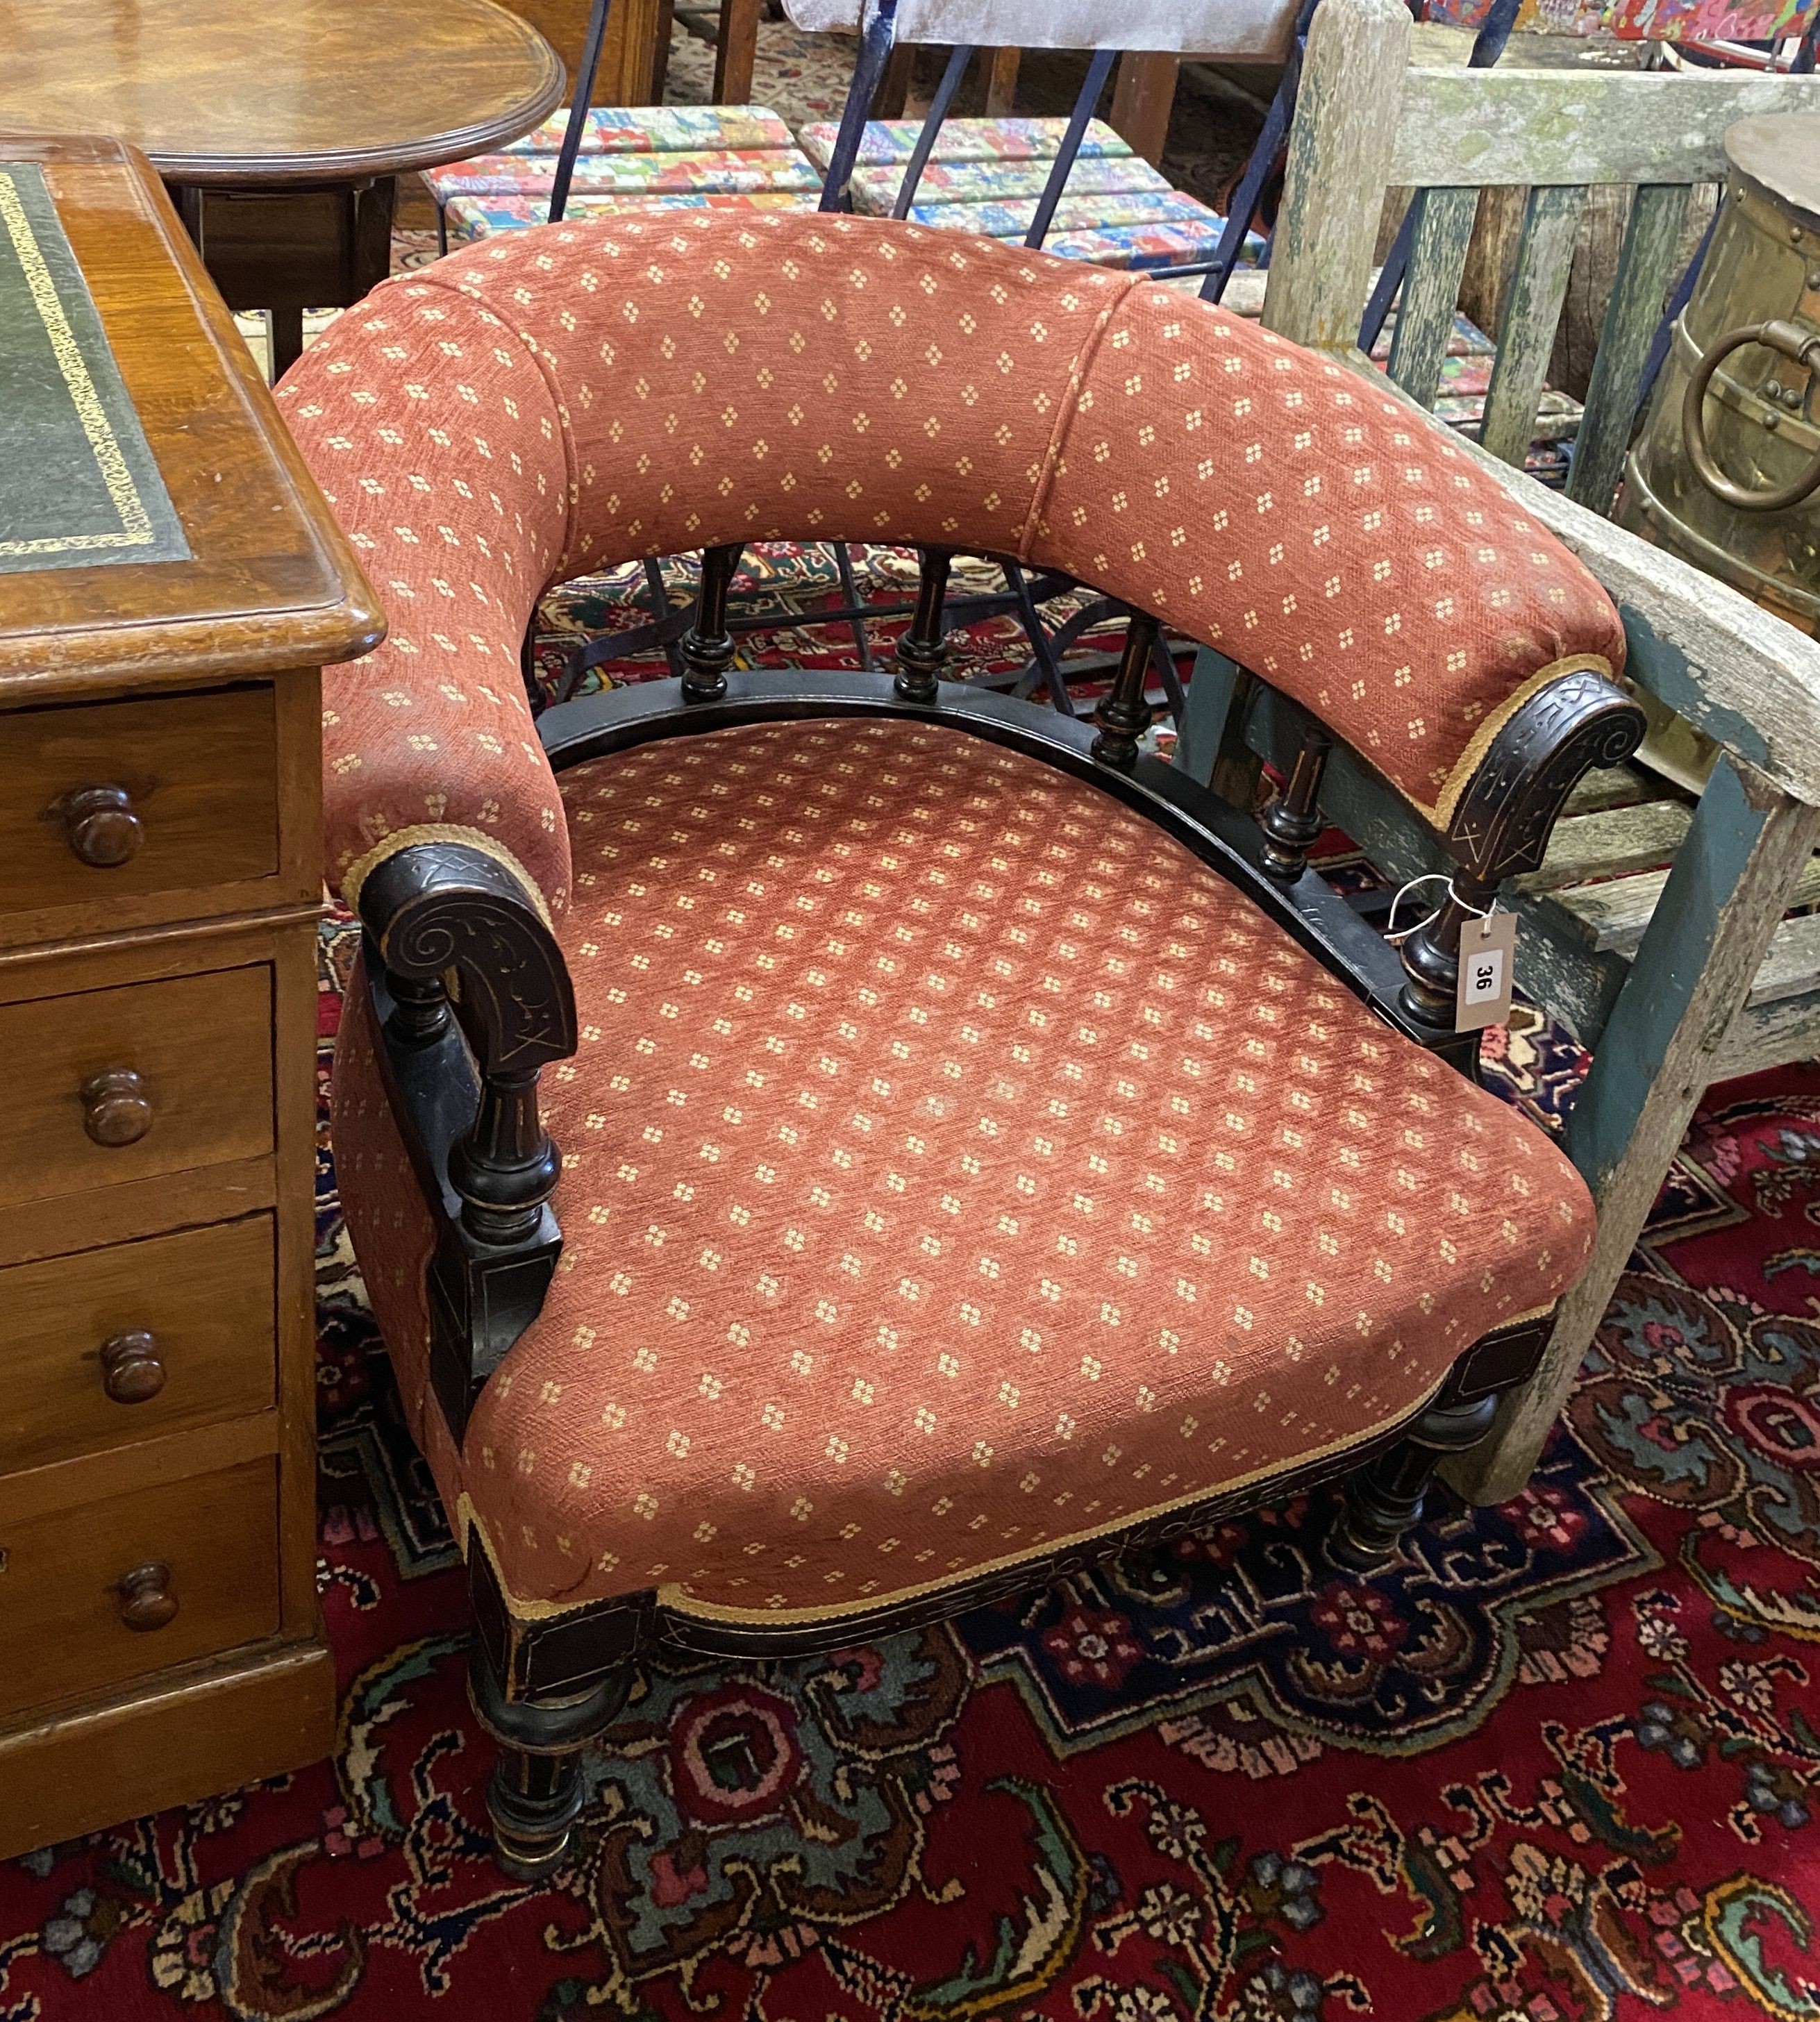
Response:
[{"label": "black carved scroll arm support of tub chair, nearest the desk", "polygon": [[562,1252],[538,1076],[574,1053],[574,989],[532,894],[479,847],[384,857],[358,910],[392,1106],[437,1221],[431,1375],[459,1440]]}]

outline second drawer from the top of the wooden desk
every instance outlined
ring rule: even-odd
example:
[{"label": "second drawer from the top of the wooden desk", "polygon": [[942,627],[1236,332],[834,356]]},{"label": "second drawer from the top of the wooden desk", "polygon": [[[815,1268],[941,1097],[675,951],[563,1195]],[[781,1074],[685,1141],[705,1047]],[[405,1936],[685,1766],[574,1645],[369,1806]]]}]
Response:
[{"label": "second drawer from the top of the wooden desk", "polygon": [[0,1005],[0,1207],[271,1151],[271,971]]}]

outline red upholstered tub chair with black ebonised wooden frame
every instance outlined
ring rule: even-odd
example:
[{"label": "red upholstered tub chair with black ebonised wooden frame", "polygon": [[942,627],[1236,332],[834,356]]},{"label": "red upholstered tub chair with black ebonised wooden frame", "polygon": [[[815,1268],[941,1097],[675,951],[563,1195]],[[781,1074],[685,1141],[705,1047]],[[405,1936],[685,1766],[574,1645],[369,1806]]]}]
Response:
[{"label": "red upholstered tub chair with black ebonised wooden frame", "polygon": [[[380,287],[281,402],[390,619],[328,675],[348,1227],[469,1565],[510,1870],[641,1650],[843,1646],[1351,1472],[1381,1561],[1585,1187],[1474,1086],[1462,920],[1628,754],[1598,582],[1426,417],[1179,295],[861,218],[617,218]],[[882,673],[534,726],[540,590],[920,546]],[[1130,609],[1096,722],[940,679],[942,556]],[[1300,706],[1260,825],[1139,748],[1157,615]],[[1306,869],[1333,740],[1456,863]],[[560,1231],[558,1231],[560,1219]]]}]

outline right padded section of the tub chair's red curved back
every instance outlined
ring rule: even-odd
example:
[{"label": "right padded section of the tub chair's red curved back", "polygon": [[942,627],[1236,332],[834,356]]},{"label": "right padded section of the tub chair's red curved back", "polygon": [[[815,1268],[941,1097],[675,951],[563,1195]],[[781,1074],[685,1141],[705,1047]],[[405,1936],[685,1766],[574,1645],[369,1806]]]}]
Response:
[{"label": "right padded section of the tub chair's red curved back", "polygon": [[1535,685],[1622,665],[1618,613],[1448,429],[1199,307],[1124,291],[1035,552],[1221,647],[1446,823]]}]

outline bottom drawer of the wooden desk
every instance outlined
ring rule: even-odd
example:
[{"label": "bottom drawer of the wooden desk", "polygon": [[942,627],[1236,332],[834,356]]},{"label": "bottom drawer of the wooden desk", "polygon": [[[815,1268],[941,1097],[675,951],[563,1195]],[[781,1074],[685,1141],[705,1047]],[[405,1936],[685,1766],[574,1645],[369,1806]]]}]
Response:
[{"label": "bottom drawer of the wooden desk", "polygon": [[0,1525],[0,1721],[273,1636],[277,1462]]}]

